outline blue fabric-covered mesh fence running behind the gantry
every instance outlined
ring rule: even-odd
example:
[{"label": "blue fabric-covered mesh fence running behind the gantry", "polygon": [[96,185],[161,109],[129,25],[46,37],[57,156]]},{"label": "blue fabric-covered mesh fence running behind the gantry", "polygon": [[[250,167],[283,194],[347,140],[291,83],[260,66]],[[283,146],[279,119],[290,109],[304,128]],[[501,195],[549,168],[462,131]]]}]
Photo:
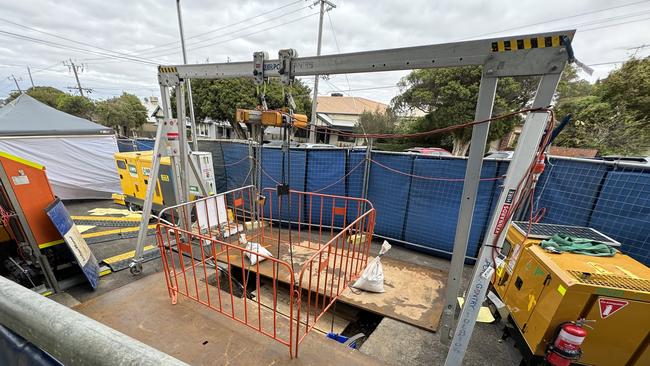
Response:
[{"label": "blue fabric-covered mesh fence running behind the gantry", "polygon": [[[236,142],[220,142],[220,146],[223,165],[229,165],[223,168],[228,188],[241,187],[250,164],[230,164],[245,157],[248,146]],[[275,188],[281,180],[281,154],[277,148],[263,149],[263,187]],[[292,149],[291,156],[292,189],[362,196],[365,150]],[[466,164],[465,159],[373,151],[366,198],[377,210],[375,233],[431,254],[450,252],[463,186],[458,179],[464,177]],[[502,177],[508,164],[506,160],[484,161],[468,256],[475,256],[482,242],[501,193],[501,182],[495,177]],[[534,209],[545,209],[541,222],[591,226],[621,241],[624,251],[650,264],[650,202],[645,199],[650,197],[648,177],[650,169],[613,169],[603,162],[553,157],[537,184]],[[277,197],[273,199],[277,202]],[[306,203],[292,202],[293,219],[297,219],[301,204]],[[287,217],[288,205],[284,206]],[[328,215],[330,209],[324,207],[323,212]],[[350,208],[348,213],[354,214]],[[308,220],[306,213],[301,215]]]}]

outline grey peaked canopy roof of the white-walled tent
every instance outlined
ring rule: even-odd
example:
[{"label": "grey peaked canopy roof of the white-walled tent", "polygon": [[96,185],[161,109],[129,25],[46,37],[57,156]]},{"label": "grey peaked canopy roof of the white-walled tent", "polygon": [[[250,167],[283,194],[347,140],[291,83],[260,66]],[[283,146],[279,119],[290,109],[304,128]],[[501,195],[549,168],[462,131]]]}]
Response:
[{"label": "grey peaked canopy roof of the white-walled tent", "polygon": [[56,110],[27,94],[0,109],[0,136],[107,135],[113,130]]}]

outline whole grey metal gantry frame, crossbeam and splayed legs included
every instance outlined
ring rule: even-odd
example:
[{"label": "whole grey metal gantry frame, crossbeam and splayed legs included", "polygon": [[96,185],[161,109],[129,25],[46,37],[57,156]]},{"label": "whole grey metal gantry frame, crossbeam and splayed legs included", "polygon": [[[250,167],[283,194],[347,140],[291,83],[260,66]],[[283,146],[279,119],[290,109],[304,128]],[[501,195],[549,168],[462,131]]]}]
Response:
[{"label": "whole grey metal gantry frame, crossbeam and splayed legs included", "polygon": [[[380,72],[393,70],[411,70],[442,67],[482,66],[483,76],[479,90],[476,118],[489,118],[496,93],[497,81],[507,76],[542,76],[539,83],[534,106],[546,107],[551,103],[560,75],[567,61],[572,61],[573,51],[570,42],[575,30],[529,34],[513,37],[499,37],[473,41],[453,42],[438,45],[386,49],[378,51],[356,52],[337,55],[314,57],[296,57],[293,50],[280,50],[279,59],[267,60],[266,57],[256,57],[249,62],[230,62],[196,65],[171,65],[158,68],[158,81],[161,88],[164,122],[159,125],[154,146],[152,174],[157,176],[160,157],[172,156],[176,162],[175,175],[180,182],[179,199],[183,203],[188,199],[187,166],[189,146],[185,141],[185,124],[176,125],[179,137],[179,151],[170,152],[170,146],[176,141],[170,141],[168,125],[171,118],[169,106],[169,90],[174,88],[182,95],[181,83],[189,79],[227,79],[254,78],[256,81],[271,77],[282,79],[283,83],[291,82],[296,76],[333,75],[348,73]],[[185,120],[184,98],[177,98],[178,120]],[[548,114],[546,112],[529,113],[517,145],[515,155],[510,163],[507,178],[504,182],[504,192],[514,186],[525,174],[525,168],[533,159],[534,149],[544,132]],[[458,225],[454,241],[454,254],[447,283],[447,298],[441,322],[441,338],[449,342],[453,329],[456,310],[456,297],[460,290],[463,263],[467,251],[469,231],[472,223],[474,204],[480,172],[483,162],[483,152],[487,143],[489,123],[473,127],[470,156],[463,185],[462,204],[458,215]],[[172,132],[172,135],[174,132]],[[182,147],[182,149],[181,149]],[[172,148],[173,149],[173,148]],[[198,179],[200,181],[200,179]],[[142,215],[142,224],[133,268],[139,273],[141,268],[142,249],[146,236],[147,223],[151,217],[153,188],[147,187],[147,196]],[[506,194],[502,193],[495,212],[503,208]],[[484,244],[493,240],[493,228],[496,225],[496,215],[492,218]],[[507,223],[506,223],[507,224]],[[502,243],[502,238],[497,246]],[[476,268],[493,267],[489,252],[481,250]],[[474,328],[480,304],[485,298],[487,280],[479,271],[475,271],[470,285],[470,300],[463,308],[456,328],[452,347],[446,364],[459,365],[469,343]]]}]

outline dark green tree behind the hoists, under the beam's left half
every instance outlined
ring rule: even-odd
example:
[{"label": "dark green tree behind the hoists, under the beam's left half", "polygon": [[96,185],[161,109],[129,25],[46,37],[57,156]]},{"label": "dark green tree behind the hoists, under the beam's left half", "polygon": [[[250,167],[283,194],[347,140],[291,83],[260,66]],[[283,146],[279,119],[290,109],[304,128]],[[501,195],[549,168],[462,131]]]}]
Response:
[{"label": "dark green tree behind the hoists, under the beam's left half", "polygon": [[[282,84],[272,79],[266,86],[266,102],[270,109],[285,106],[282,93]],[[311,111],[310,89],[299,79],[296,79],[290,88],[296,102],[296,113],[309,115]],[[218,80],[193,80],[192,98],[194,99],[194,114],[197,120],[206,117],[215,121],[228,121],[235,131],[240,131],[239,125],[234,123],[237,108],[253,109],[260,104],[256,96],[256,86],[252,79],[218,79]],[[172,102],[174,103],[174,102]],[[187,105],[187,103],[186,103]],[[239,132],[241,134],[242,131]],[[245,138],[246,136],[241,136]]]}]

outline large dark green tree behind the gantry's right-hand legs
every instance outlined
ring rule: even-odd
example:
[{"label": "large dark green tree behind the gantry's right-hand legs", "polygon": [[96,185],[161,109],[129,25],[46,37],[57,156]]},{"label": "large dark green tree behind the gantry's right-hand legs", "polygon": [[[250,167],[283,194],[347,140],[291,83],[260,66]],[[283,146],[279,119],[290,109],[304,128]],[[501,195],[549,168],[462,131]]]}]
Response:
[{"label": "large dark green tree behind the gantry's right-hand legs", "polygon": [[[408,132],[428,131],[474,119],[481,80],[480,67],[414,70],[399,86],[402,93],[393,98],[398,111],[418,109],[427,113],[406,127]],[[492,115],[500,115],[525,107],[536,88],[537,78],[501,78]],[[493,122],[488,140],[496,140],[510,132],[521,118],[518,116]],[[451,148],[454,155],[465,155],[469,149],[472,129],[464,128],[449,135],[433,135],[417,139],[433,146]]]}]

